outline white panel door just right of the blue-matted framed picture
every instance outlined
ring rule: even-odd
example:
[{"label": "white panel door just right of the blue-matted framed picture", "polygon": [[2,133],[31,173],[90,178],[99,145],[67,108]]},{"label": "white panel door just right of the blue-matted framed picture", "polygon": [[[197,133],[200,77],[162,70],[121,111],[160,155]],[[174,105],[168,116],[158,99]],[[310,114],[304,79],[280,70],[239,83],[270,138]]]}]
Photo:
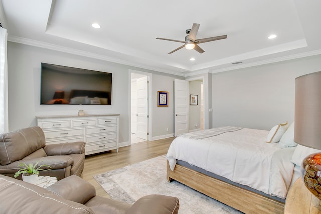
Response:
[{"label": "white panel door just right of the blue-matted framed picture", "polygon": [[188,129],[189,84],[186,80],[174,80],[174,136]]}]

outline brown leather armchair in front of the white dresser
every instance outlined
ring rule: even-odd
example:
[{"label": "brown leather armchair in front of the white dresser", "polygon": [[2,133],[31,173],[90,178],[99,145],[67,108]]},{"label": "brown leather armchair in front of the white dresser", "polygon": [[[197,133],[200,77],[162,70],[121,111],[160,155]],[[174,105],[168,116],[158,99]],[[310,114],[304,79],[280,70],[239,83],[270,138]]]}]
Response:
[{"label": "brown leather armchair in front of the white dresser", "polygon": [[[85,142],[46,145],[40,127],[29,127],[0,135],[0,174],[14,177],[19,164],[36,163],[52,167],[40,171],[41,176],[61,180],[70,175],[81,176],[85,162]],[[45,168],[44,168],[45,169]],[[22,179],[21,175],[17,177]]]}]

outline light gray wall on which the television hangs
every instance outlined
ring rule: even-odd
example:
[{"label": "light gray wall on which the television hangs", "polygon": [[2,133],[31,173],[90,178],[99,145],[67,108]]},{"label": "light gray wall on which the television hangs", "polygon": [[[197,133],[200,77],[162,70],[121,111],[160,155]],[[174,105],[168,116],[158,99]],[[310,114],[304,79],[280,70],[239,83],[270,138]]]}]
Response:
[{"label": "light gray wall on which the television hangs", "polygon": [[[171,91],[170,99],[173,99],[174,75],[166,77],[156,71],[8,42],[9,131],[35,126],[35,116],[78,114],[79,106],[75,105],[40,105],[41,62],[112,73],[112,105],[83,105],[82,109],[85,110],[85,114],[120,114],[120,143],[128,142],[129,139],[129,69],[157,74],[155,82],[157,82],[157,78],[162,82],[156,83],[156,86],[162,85],[159,88]],[[156,95],[156,92],[154,94]],[[174,108],[172,100],[170,105],[171,107],[166,111],[171,111],[170,109]],[[156,114],[160,113],[157,110],[155,112]],[[169,127],[172,132],[173,124],[172,113],[165,113],[161,117],[156,116],[153,136],[163,135],[163,132],[158,131],[163,130],[163,127]]]}]

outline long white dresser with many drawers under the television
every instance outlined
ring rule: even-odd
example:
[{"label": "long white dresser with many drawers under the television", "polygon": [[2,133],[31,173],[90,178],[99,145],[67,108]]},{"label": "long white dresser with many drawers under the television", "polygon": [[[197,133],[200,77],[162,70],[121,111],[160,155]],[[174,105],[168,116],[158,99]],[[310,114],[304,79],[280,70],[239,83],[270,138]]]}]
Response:
[{"label": "long white dresser with many drawers under the television", "polygon": [[85,155],[116,149],[119,114],[37,116],[46,144],[86,142]]}]

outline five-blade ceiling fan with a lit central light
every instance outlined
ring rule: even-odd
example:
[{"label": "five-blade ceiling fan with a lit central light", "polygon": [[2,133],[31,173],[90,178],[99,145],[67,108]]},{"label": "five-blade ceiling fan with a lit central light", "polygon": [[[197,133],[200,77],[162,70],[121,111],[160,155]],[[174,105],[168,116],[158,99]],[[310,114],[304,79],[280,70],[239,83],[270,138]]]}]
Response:
[{"label": "five-blade ceiling fan with a lit central light", "polygon": [[184,45],[178,47],[177,49],[171,51],[169,54],[172,54],[173,52],[180,50],[181,48],[185,47],[186,49],[194,49],[198,51],[200,54],[204,52],[204,50],[198,46],[197,44],[199,43],[205,43],[205,42],[210,42],[214,40],[221,40],[221,39],[226,39],[227,35],[222,35],[222,36],[217,36],[217,37],[208,37],[208,38],[203,38],[203,39],[196,39],[196,34],[199,30],[200,24],[193,23],[192,28],[187,29],[185,32],[188,34],[185,36],[185,41],[181,40],[172,40],[172,39],[165,39],[165,38],[159,38],[157,37],[156,39],[159,40],[168,40],[168,41],[173,41],[173,42],[180,42],[180,43],[185,43]]}]

